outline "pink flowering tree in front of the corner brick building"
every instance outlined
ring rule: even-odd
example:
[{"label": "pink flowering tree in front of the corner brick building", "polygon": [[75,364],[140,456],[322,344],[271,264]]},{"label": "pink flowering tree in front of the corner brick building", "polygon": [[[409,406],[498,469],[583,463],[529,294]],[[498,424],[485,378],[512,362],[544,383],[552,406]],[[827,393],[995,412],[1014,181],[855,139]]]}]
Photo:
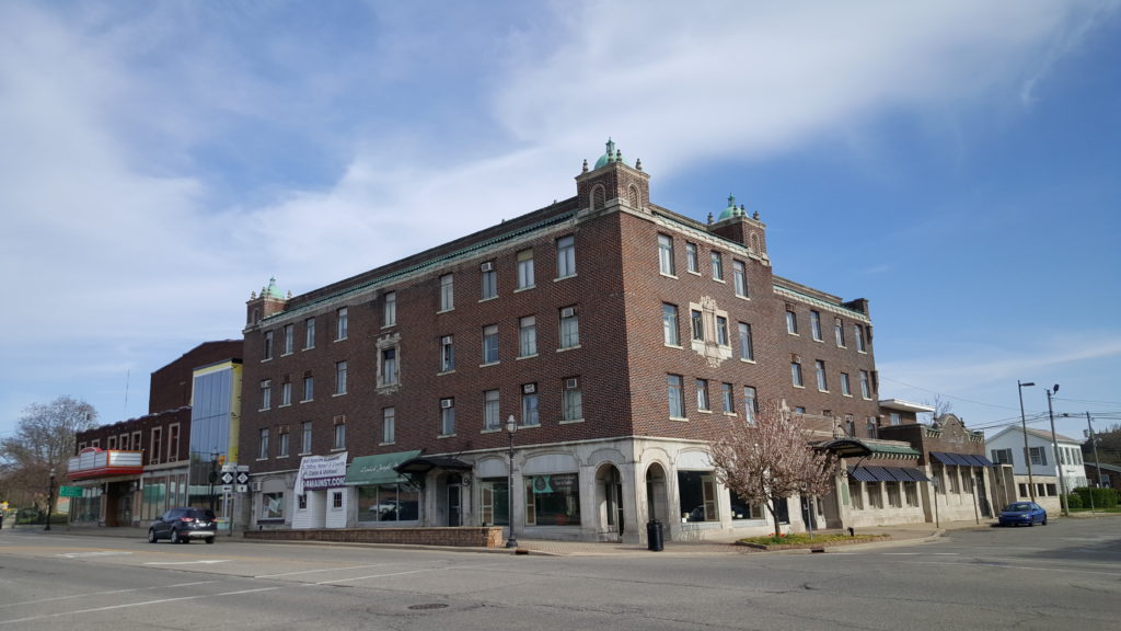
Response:
[{"label": "pink flowering tree in front of the corner brick building", "polygon": [[763,504],[779,531],[778,501],[833,492],[834,457],[813,448],[810,429],[802,417],[790,414],[785,402],[768,404],[754,423],[735,423],[710,446],[716,478],[736,495]]}]

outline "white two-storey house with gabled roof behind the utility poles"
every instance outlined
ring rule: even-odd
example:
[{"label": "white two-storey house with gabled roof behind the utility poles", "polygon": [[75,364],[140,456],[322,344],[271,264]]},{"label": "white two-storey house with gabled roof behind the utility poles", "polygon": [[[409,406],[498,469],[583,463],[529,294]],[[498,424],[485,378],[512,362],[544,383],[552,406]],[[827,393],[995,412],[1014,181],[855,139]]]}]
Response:
[{"label": "white two-storey house with gabled roof behind the utility poles", "polygon": [[[1012,426],[985,442],[995,465],[1011,467],[1016,488],[1009,490],[1009,497],[1034,499],[1048,511],[1058,512],[1060,510],[1058,496],[1062,488],[1071,493],[1078,486],[1086,486],[1082,449],[1072,438],[1056,433],[1053,439],[1049,431],[1028,428],[1027,454],[1025,454],[1023,429]],[[1055,443],[1058,445],[1058,454],[1055,452]]]}]

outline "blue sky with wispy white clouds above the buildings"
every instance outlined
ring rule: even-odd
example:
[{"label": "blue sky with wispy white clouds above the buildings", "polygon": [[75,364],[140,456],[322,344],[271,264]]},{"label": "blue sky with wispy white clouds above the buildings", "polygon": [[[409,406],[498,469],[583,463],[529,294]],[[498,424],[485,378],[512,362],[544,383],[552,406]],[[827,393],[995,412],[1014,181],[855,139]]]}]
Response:
[{"label": "blue sky with wispy white clouds above the buildings", "polygon": [[[880,396],[1121,424],[1121,3],[0,2],[0,438],[300,294],[575,194],[729,194],[871,302]],[[1066,414],[1066,415],[1064,415]]]}]

